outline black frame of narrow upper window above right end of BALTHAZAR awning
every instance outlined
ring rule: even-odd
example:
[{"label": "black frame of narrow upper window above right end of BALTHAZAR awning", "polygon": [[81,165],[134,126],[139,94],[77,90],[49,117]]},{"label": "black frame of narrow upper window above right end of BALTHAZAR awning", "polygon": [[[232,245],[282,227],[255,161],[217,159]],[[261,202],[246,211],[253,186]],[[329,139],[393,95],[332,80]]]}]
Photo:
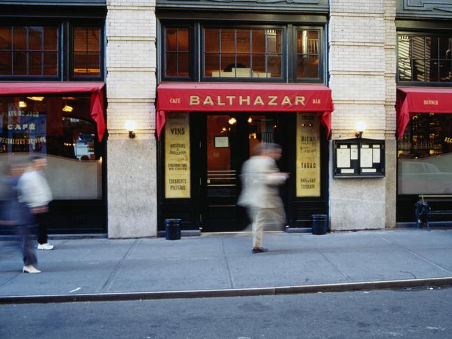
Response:
[{"label": "black frame of narrow upper window above right end of BALTHAZAR awning", "polygon": [[[298,31],[318,31],[318,77],[317,78],[297,78],[298,74],[298,51],[297,51],[297,33]],[[292,69],[290,72],[291,79],[293,83],[325,83],[325,53],[327,53],[327,48],[325,48],[325,30],[323,26],[300,26],[296,25],[292,28],[292,38],[291,38],[291,62]]]}]

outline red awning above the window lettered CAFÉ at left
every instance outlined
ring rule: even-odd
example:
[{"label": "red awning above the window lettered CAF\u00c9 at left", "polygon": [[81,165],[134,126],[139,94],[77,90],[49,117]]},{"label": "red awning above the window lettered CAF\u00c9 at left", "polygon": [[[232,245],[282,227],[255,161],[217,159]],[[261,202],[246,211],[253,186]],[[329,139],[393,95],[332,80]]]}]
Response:
[{"label": "red awning above the window lettered CAF\u00c9 at left", "polygon": [[97,137],[99,141],[102,141],[106,129],[104,119],[104,86],[105,83],[95,82],[0,82],[0,95],[91,94],[90,115],[97,124]]}]

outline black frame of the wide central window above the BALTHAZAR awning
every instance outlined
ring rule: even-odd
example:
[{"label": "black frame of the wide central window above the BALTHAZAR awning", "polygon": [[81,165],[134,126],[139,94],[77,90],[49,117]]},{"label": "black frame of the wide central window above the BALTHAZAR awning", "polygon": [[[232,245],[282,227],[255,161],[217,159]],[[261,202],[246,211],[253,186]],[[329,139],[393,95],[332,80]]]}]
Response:
[{"label": "black frame of the wide central window above the BALTHAZAR awning", "polygon": [[[282,53],[281,53],[281,77],[280,78],[252,78],[252,77],[213,77],[213,76],[204,76],[204,30],[205,28],[224,28],[224,29],[278,29],[282,31]],[[200,26],[200,47],[199,47],[199,55],[200,55],[200,79],[204,82],[253,82],[253,83],[282,83],[286,82],[287,76],[287,26],[283,25],[243,25],[243,24],[202,24]],[[235,52],[237,54],[237,52]],[[267,52],[265,53],[268,54]]]}]

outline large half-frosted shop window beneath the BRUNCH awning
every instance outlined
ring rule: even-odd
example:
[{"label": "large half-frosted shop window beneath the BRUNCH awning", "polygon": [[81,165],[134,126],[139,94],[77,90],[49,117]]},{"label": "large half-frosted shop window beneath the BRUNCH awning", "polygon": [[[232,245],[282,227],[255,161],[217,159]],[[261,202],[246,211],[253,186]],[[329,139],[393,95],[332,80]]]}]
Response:
[{"label": "large half-frosted shop window beneath the BRUNCH awning", "polygon": [[398,194],[452,194],[452,114],[412,115],[398,142]]}]

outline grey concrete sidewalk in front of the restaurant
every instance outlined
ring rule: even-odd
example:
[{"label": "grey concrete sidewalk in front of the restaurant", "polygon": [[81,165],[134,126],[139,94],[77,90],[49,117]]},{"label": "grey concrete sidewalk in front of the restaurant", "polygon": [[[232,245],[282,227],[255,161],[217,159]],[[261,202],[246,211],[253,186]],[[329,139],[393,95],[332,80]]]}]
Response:
[{"label": "grey concrete sidewalk in front of the restaurant", "polygon": [[452,230],[269,232],[264,245],[270,251],[263,254],[251,253],[251,241],[250,233],[208,233],[175,241],[53,240],[53,251],[37,251],[41,274],[21,273],[19,249],[3,241],[0,298],[452,277]]}]

